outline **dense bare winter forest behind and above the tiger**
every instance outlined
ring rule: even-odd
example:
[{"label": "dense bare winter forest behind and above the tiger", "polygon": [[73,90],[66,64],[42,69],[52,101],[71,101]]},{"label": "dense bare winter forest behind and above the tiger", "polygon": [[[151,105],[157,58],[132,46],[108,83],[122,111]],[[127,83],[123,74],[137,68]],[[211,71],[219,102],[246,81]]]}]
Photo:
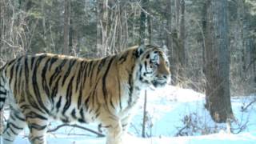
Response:
[{"label": "dense bare winter forest behind and above the tiger", "polygon": [[206,106],[218,87],[256,91],[254,0],[0,0],[0,34],[0,66],[42,52],[100,58],[146,39],[167,49],[172,84],[206,93]]}]

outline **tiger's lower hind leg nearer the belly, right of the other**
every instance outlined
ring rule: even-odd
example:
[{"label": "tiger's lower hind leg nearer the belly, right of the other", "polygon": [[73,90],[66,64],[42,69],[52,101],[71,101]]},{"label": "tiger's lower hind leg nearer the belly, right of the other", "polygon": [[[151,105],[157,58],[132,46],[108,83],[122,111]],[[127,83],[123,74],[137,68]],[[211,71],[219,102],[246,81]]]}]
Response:
[{"label": "tiger's lower hind leg nearer the belly, right of the other", "polygon": [[[36,114],[36,113],[34,113]],[[28,126],[30,129],[29,140],[31,144],[46,144],[46,130],[48,126],[48,119],[44,115],[38,117],[27,118]]]}]

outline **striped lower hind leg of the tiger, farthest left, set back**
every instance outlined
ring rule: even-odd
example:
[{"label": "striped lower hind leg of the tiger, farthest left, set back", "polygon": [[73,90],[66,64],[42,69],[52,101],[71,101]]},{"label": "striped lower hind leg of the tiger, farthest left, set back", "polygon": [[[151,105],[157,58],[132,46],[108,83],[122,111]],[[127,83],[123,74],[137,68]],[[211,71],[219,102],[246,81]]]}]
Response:
[{"label": "striped lower hind leg of the tiger, farthest left, set back", "polygon": [[3,132],[3,143],[11,144],[26,126],[24,115],[19,110],[10,110],[10,117]]}]

